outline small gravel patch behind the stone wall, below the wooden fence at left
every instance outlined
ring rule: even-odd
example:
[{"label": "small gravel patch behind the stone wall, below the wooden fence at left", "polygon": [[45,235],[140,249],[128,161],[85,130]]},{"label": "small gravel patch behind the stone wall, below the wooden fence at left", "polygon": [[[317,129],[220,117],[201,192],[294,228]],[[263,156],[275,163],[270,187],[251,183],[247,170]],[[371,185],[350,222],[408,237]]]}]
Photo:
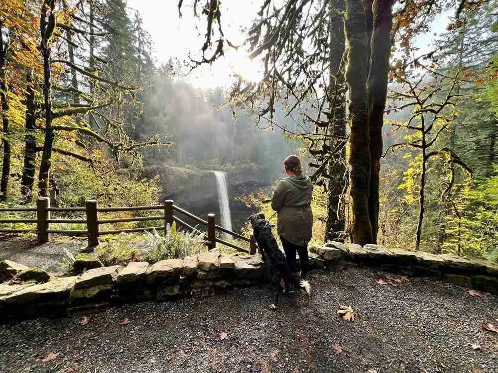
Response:
[{"label": "small gravel patch behind the stone wall, below the wooden fence at left", "polygon": [[43,245],[38,244],[36,238],[4,240],[0,241],[0,261],[8,259],[59,274],[63,272],[60,263],[67,257],[65,250],[75,255],[87,245],[87,238],[56,237]]}]

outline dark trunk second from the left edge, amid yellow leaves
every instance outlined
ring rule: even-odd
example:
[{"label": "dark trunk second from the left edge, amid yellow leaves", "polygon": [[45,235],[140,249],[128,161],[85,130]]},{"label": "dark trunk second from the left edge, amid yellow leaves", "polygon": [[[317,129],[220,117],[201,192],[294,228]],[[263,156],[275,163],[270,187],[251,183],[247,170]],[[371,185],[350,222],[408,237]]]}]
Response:
[{"label": "dark trunk second from the left edge, amid yellow leaves", "polygon": [[33,182],[36,159],[35,103],[33,70],[26,69],[26,119],[24,126],[24,164],[22,167],[21,195],[25,202],[33,198]]}]

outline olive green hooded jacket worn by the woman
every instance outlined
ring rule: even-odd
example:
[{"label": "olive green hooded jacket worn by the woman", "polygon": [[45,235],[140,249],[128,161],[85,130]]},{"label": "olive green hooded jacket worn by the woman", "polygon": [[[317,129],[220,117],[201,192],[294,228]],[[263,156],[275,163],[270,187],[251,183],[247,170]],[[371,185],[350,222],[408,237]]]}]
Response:
[{"label": "olive green hooded jacket worn by the woman", "polygon": [[295,245],[304,246],[311,240],[313,186],[307,176],[286,176],[273,191],[271,208],[277,212],[278,235]]}]

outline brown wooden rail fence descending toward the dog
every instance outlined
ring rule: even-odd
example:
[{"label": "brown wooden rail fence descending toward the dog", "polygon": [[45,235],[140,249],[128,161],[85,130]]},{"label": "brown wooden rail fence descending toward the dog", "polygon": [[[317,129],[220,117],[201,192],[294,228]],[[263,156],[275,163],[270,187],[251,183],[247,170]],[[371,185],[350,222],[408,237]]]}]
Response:
[{"label": "brown wooden rail fence descending toward the dog", "polygon": [[[125,217],[116,219],[99,219],[99,212],[116,212],[116,211],[146,211],[146,210],[159,210],[161,215],[143,216],[143,217]],[[175,204],[172,200],[165,200],[164,204],[152,206],[135,206],[135,207],[98,207],[95,199],[85,201],[85,207],[51,207],[50,198],[40,197],[36,200],[36,207],[15,207],[15,208],[0,208],[0,212],[36,212],[36,219],[0,219],[0,224],[4,223],[29,223],[36,224],[36,232],[38,241],[40,243],[50,242],[52,234],[66,234],[71,236],[88,236],[88,246],[95,247],[99,244],[99,236],[106,234],[118,234],[121,232],[144,232],[150,230],[166,230],[167,224],[179,224],[190,231],[198,231],[190,224],[181,220],[175,215],[175,212],[181,213],[189,218],[197,221],[198,223],[207,226],[205,233],[204,243],[208,246],[209,250],[213,250],[217,243],[229,246],[237,251],[244,253],[254,254],[256,252],[256,243],[254,237],[244,237],[243,235],[230,231],[220,225],[216,224],[215,214],[208,214],[208,220],[201,219],[200,217],[184,210]],[[86,219],[53,219],[51,212],[54,213],[67,213],[67,212],[80,212],[85,213]],[[135,221],[152,221],[162,220],[164,223],[157,227],[143,227],[143,228],[124,228],[114,230],[101,230],[101,225],[135,222]],[[67,223],[67,224],[86,224],[86,230],[65,230],[65,229],[51,229],[51,223]],[[0,229],[0,233],[27,233],[32,232],[33,229]],[[249,251],[226,240],[217,237],[217,231],[231,235],[233,238],[240,239],[249,243]]]}]

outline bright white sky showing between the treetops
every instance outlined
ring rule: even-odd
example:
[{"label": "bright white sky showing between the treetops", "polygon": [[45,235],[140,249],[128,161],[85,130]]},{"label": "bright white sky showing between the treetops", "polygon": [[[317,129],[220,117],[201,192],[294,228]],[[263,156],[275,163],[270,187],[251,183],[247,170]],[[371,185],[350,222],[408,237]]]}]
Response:
[{"label": "bright white sky showing between the treetops", "polygon": [[[127,0],[130,8],[137,10],[142,18],[142,27],[150,34],[153,54],[157,64],[167,64],[170,57],[181,63],[189,61],[189,53],[197,57],[204,41],[203,20],[193,15],[191,0],[184,0],[183,17],[178,14],[178,0]],[[244,27],[248,28],[259,10],[260,0],[224,0],[222,23],[229,40],[234,44],[244,41]],[[202,3],[202,0],[199,1]],[[438,15],[431,32],[418,37],[415,45],[419,53],[430,51],[434,33],[445,30],[452,11]],[[231,74],[242,74],[249,80],[258,80],[260,68],[257,61],[251,62],[244,51],[229,51],[210,66],[204,65],[191,72],[185,79],[197,88],[227,87],[234,81]]]}]

